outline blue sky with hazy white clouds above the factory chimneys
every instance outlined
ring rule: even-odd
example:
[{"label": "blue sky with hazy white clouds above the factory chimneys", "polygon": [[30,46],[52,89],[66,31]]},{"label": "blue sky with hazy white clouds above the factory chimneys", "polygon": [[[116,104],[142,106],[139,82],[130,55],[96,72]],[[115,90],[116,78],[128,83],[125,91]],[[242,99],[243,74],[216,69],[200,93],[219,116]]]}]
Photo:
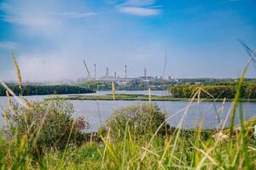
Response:
[{"label": "blue sky with hazy white clouds above the factory chimneys", "polygon": [[238,38],[256,50],[255,0],[0,0],[0,80],[15,80],[11,52],[32,82],[86,77],[83,59],[97,77],[127,65],[128,77],[236,78],[249,59]]}]

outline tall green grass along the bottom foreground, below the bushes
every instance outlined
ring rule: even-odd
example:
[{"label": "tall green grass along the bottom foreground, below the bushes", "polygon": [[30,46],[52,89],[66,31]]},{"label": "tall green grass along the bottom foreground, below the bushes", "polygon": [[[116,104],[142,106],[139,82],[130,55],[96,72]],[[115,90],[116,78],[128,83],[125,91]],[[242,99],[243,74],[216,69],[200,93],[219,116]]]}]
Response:
[{"label": "tall green grass along the bottom foreground, below the bushes", "polygon": [[[256,122],[251,120],[250,123]],[[238,127],[237,127],[238,128]],[[234,131],[235,132],[235,131]],[[224,135],[228,136],[229,129]],[[63,151],[52,150],[33,160],[26,139],[9,148],[0,140],[0,167],[3,169],[253,169],[256,165],[255,139],[247,134],[247,150],[241,133],[231,139],[214,139],[215,132],[172,129],[152,139],[137,139],[126,129],[120,142],[107,135],[102,142],[87,142]],[[230,140],[232,146],[230,147]],[[173,150],[173,151],[172,151]],[[63,157],[64,156],[64,157]]]}]

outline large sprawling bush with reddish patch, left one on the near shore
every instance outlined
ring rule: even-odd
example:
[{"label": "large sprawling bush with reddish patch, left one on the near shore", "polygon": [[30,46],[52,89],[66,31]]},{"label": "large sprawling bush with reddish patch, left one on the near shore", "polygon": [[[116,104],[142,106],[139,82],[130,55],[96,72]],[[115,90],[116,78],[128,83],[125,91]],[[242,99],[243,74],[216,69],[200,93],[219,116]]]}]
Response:
[{"label": "large sprawling bush with reddish patch, left one on the near shore", "polygon": [[42,154],[53,148],[63,150],[69,135],[69,144],[80,144],[82,131],[89,127],[83,117],[73,119],[73,105],[67,101],[33,102],[30,109],[19,105],[11,107],[6,138],[21,139],[26,135],[28,148],[32,148],[33,153]]}]

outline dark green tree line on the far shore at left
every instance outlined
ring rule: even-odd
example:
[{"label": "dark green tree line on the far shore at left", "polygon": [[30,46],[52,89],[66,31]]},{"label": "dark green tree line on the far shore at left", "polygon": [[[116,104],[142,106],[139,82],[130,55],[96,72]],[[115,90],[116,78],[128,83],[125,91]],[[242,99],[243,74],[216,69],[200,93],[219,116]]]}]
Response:
[{"label": "dark green tree line on the far shore at left", "polygon": [[[47,95],[47,94],[88,94],[94,93],[95,91],[90,88],[81,88],[79,86],[68,86],[68,85],[27,85],[20,87],[15,84],[9,84],[9,88],[16,95]],[[6,96],[6,89],[0,86],[0,96]]]}]

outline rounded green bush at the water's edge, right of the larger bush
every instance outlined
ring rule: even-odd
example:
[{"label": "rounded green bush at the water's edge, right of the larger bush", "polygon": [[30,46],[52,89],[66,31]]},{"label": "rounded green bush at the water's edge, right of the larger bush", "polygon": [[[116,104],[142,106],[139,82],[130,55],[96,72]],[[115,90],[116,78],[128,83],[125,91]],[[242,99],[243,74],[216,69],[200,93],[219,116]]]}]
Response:
[{"label": "rounded green bush at the water's edge, right of the larger bush", "polygon": [[128,123],[129,133],[133,137],[147,137],[155,133],[162,123],[159,133],[164,133],[166,128],[165,114],[160,112],[157,105],[133,105],[113,111],[113,116],[108,118],[105,128],[110,129],[113,139],[123,139],[125,127]]}]

